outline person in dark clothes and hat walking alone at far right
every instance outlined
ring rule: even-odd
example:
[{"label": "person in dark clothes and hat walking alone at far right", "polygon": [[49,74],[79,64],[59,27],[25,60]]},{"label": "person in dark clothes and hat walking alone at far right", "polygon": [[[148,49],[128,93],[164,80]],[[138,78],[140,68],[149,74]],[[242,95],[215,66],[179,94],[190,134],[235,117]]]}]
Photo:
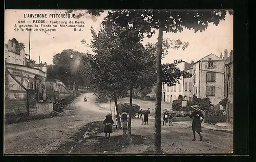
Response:
[{"label": "person in dark clothes and hat walking alone at far right", "polygon": [[201,126],[201,117],[204,119],[204,115],[203,113],[198,109],[199,106],[198,105],[193,105],[190,106],[191,108],[194,109],[194,111],[191,113],[190,118],[193,118],[193,122],[192,122],[192,130],[193,130],[193,140],[192,141],[196,141],[196,132],[198,133],[198,135],[200,136],[200,141],[203,140],[203,136],[201,135],[201,131],[202,131],[202,126]]}]

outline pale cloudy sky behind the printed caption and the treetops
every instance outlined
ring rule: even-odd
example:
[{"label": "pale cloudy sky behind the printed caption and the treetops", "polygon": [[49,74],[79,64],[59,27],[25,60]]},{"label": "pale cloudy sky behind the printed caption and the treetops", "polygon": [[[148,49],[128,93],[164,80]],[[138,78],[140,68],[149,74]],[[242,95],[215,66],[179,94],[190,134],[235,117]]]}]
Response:
[{"label": "pale cloudy sky behind the printed caption and the treetops", "polygon": [[[23,42],[26,46],[26,53],[29,53],[29,31],[14,31],[15,25],[19,28],[18,21],[33,19],[44,19],[46,21],[75,21],[72,18],[49,18],[49,14],[63,13],[61,10],[6,10],[5,12],[5,42],[13,37],[19,42]],[[24,14],[47,14],[48,18],[24,18]],[[54,54],[60,53],[65,49],[73,49],[75,51],[86,53],[91,51],[90,48],[81,43],[81,39],[86,39],[90,42],[91,26],[98,29],[102,19],[106,16],[103,13],[101,16],[92,18],[90,15],[80,18],[79,21],[84,21],[82,31],[74,31],[73,28],[57,28],[56,31],[45,33],[44,31],[31,32],[31,59],[38,62],[39,56],[42,62],[52,64]],[[169,50],[169,55],[163,59],[164,63],[173,62],[174,59],[182,59],[187,62],[198,61],[208,54],[220,56],[220,53],[225,49],[233,50],[233,16],[227,14],[226,20],[221,21],[216,27],[210,24],[208,29],[202,33],[194,33],[194,31],[184,30],[181,33],[164,33],[164,38],[181,39],[183,42],[189,42],[189,46],[183,50]],[[30,23],[32,25],[32,23]],[[38,28],[39,29],[39,28]],[[44,28],[45,29],[45,28]],[[52,29],[52,28],[50,28]],[[157,33],[152,38],[144,39],[146,42],[157,42]]]}]

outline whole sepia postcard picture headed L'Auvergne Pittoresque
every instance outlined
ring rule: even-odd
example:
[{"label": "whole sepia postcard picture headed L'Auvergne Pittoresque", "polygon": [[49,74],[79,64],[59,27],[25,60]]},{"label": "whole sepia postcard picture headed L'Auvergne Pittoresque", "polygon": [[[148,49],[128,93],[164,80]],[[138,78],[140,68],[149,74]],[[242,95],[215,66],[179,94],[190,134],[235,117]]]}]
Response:
[{"label": "whole sepia postcard picture headed L'Auvergne Pittoresque", "polygon": [[4,43],[4,154],[233,153],[233,10],[8,9]]}]

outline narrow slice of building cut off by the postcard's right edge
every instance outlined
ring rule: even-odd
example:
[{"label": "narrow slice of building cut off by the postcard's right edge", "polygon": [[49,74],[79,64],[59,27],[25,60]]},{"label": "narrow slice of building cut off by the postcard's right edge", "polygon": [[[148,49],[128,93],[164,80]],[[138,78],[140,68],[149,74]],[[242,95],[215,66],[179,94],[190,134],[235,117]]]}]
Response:
[{"label": "narrow slice of building cut off by the postcard's right edge", "polygon": [[233,123],[233,51],[229,53],[228,63],[225,65],[225,98],[227,98],[227,122]]}]

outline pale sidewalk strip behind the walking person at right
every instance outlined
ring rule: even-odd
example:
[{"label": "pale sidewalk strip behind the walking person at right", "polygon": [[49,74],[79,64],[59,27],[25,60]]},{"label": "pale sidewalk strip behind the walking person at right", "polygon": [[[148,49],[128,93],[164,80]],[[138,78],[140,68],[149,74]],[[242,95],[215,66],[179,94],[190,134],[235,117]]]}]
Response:
[{"label": "pale sidewalk strip behind the walking person at right", "polygon": [[[192,121],[174,122],[174,124],[191,126]],[[230,123],[216,123],[216,124],[202,123],[202,128],[233,133],[233,126]]]}]

